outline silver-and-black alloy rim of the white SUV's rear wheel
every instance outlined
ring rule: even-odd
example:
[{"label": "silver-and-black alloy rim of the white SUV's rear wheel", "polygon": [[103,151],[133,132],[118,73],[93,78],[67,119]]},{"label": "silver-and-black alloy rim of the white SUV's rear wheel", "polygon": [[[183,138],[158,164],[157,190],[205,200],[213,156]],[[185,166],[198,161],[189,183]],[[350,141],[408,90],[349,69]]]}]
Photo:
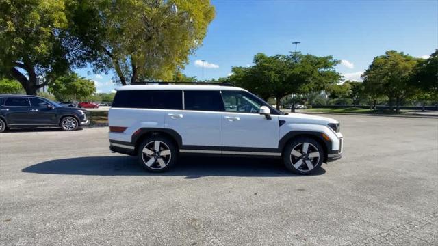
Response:
[{"label": "silver-and-black alloy rim of the white SUV's rear wheel", "polygon": [[144,165],[151,169],[164,169],[172,159],[169,146],[162,141],[150,141],[142,150]]}]

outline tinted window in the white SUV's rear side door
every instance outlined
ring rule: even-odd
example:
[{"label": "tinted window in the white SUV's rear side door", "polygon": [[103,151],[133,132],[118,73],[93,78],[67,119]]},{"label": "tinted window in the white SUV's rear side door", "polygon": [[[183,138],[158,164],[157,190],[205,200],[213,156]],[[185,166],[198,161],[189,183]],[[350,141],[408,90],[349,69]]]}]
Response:
[{"label": "tinted window in the white SUV's rear side door", "polygon": [[224,104],[220,92],[206,90],[184,91],[184,105],[186,110],[224,111]]}]

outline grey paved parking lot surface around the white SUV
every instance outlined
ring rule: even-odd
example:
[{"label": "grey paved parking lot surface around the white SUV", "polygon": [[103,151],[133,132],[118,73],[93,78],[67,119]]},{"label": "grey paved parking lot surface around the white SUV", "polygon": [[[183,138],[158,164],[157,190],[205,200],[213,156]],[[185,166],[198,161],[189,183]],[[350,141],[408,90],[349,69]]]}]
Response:
[{"label": "grey paved parking lot surface around the white SUV", "polygon": [[0,135],[0,245],[438,245],[438,121],[334,115],[344,158],[183,159],[149,174],[107,128]]}]

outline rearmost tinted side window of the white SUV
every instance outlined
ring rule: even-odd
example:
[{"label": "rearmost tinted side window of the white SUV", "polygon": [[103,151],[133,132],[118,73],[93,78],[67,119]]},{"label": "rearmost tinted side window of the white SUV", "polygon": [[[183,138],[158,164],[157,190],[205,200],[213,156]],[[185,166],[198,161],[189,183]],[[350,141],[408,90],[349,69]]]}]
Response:
[{"label": "rearmost tinted side window of the white SUV", "polygon": [[118,91],[112,107],[140,109],[183,109],[180,90]]}]

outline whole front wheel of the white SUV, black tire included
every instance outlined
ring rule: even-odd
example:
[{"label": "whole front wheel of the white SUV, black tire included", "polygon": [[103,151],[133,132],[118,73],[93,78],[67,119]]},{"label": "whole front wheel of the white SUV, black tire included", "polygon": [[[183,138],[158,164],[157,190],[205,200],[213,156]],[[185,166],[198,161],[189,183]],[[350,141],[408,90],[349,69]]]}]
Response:
[{"label": "whole front wheel of the white SUV, black tire included", "polygon": [[294,174],[314,174],[321,168],[324,156],[324,148],[318,141],[299,137],[287,143],[283,150],[283,163]]}]

